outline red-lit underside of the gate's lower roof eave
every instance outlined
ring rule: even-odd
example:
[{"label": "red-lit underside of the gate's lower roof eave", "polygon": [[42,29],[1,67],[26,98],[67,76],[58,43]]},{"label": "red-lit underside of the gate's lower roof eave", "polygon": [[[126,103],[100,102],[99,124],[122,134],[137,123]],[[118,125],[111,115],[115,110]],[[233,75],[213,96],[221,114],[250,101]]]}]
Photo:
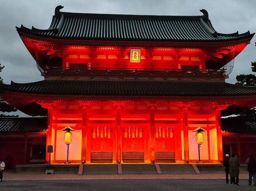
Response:
[{"label": "red-lit underside of the gate's lower roof eave", "polygon": [[[0,92],[1,97],[10,105],[16,107],[23,113],[30,116],[47,116],[47,109],[41,107],[37,102],[77,102],[77,101],[93,101],[93,102],[157,102],[157,103],[221,103],[221,104],[237,104],[239,107],[250,109],[256,106],[256,95],[240,95],[240,96],[95,96],[95,95],[47,95],[21,93],[19,91]],[[226,109],[222,110],[225,111]],[[229,111],[230,112],[230,111]],[[223,112],[222,112],[223,113]],[[225,112],[223,114],[226,114]],[[231,112],[231,114],[233,114]],[[230,115],[231,115],[230,114]]]}]

